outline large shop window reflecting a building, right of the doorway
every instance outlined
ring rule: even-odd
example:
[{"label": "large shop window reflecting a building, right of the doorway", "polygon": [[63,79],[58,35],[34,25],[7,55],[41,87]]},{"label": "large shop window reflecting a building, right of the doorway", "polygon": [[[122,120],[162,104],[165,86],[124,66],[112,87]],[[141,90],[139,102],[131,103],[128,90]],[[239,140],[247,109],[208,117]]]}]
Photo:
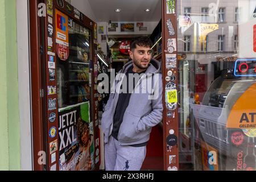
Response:
[{"label": "large shop window reflecting a building, right of the doorway", "polygon": [[177,1],[181,170],[256,170],[255,10]]}]

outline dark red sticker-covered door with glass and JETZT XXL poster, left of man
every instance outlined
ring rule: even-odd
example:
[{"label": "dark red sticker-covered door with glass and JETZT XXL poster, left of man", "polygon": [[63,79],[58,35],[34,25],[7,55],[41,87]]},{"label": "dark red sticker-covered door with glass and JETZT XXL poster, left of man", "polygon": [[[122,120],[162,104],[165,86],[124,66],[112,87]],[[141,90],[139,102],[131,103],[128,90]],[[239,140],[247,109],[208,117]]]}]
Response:
[{"label": "dark red sticker-covered door with glass and JETZT XXL poster, left of man", "polygon": [[34,169],[98,169],[97,24],[63,0],[30,2],[30,16],[35,6],[38,17],[30,23],[36,30],[30,29],[31,35],[34,31],[38,35],[31,36],[31,42],[38,39],[42,89],[40,100],[32,102],[33,107],[41,104],[42,115],[35,121],[33,111]]}]

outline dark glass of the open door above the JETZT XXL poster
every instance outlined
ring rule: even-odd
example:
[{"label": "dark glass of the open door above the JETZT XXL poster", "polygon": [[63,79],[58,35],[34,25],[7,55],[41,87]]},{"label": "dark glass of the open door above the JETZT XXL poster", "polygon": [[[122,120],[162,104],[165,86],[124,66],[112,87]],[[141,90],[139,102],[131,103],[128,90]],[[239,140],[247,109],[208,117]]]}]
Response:
[{"label": "dark glass of the open door above the JETZT XXL poster", "polygon": [[89,60],[91,32],[69,18],[69,56],[57,61],[59,108],[90,100]]}]

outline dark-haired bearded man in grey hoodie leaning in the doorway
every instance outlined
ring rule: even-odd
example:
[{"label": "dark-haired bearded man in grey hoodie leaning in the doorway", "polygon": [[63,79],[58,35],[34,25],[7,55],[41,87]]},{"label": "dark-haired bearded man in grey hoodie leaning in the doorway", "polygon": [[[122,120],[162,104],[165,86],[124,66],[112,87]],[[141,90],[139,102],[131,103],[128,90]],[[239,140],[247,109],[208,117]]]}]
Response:
[{"label": "dark-haired bearded man in grey hoodie leaning in the doorway", "polygon": [[151,47],[147,37],[134,39],[131,61],[115,78],[115,92],[109,96],[101,121],[106,171],[139,171],[151,129],[162,121],[161,65],[152,59]]}]

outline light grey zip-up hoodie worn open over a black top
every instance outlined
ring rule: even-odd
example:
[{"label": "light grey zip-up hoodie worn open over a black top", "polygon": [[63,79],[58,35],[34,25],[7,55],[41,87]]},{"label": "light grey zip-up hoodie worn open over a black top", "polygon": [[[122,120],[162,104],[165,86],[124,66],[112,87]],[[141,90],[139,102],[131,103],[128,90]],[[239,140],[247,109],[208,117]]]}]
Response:
[{"label": "light grey zip-up hoodie worn open over a black top", "polygon": [[[109,96],[105,111],[102,114],[101,128],[104,132],[104,142],[108,143],[109,136],[113,130],[113,118],[115,107],[117,106],[122,78],[125,76],[127,69],[133,66],[129,61],[115,78],[113,88],[114,93]],[[113,91],[112,88],[112,91]],[[154,90],[151,91],[151,89]],[[138,93],[139,90],[139,93]],[[129,105],[123,115],[123,121],[119,128],[118,143],[120,145],[133,145],[147,142],[150,139],[150,133],[153,126],[162,121],[163,104],[162,104],[162,74],[160,62],[151,59],[150,66],[145,74],[140,78],[130,96]]]}]

